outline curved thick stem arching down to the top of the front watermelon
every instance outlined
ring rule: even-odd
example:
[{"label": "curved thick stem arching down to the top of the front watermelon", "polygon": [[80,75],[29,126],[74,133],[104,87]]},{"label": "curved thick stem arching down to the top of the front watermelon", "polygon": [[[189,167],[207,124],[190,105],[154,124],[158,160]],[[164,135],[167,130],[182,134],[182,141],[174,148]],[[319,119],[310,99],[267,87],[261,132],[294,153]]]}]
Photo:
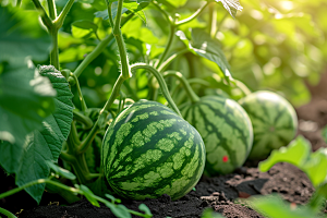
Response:
[{"label": "curved thick stem arching down to the top of the front watermelon", "polygon": [[138,69],[144,69],[148,72],[150,72],[158,81],[160,87],[161,87],[161,92],[165,96],[165,98],[167,99],[168,104],[172,107],[172,109],[182,118],[180,110],[178,109],[178,107],[175,106],[175,104],[173,102],[167,84],[162,77],[162,75],[152,65],[148,65],[146,63],[135,63],[133,65],[131,65],[131,71],[137,71]]}]

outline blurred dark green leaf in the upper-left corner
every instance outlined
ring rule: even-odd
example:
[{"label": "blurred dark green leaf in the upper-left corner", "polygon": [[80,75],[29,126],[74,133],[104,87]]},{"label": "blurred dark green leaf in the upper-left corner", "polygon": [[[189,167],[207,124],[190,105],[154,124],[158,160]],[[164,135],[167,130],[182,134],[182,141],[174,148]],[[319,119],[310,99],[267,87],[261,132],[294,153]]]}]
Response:
[{"label": "blurred dark green leaf in the upper-left corner", "polygon": [[36,61],[48,58],[51,39],[41,28],[38,15],[36,11],[0,8],[0,62],[22,64],[27,57]]}]

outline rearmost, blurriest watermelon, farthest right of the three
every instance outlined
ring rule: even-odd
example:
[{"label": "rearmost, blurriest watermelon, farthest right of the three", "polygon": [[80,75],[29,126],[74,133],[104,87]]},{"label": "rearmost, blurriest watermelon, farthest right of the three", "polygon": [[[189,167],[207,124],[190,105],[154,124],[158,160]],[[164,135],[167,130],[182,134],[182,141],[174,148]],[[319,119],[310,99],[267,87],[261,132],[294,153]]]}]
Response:
[{"label": "rearmost, blurriest watermelon, farthest right of the three", "polygon": [[261,90],[242,98],[240,104],[253,124],[254,142],[249,159],[264,159],[272,149],[286,146],[294,138],[296,113],[281,96]]}]

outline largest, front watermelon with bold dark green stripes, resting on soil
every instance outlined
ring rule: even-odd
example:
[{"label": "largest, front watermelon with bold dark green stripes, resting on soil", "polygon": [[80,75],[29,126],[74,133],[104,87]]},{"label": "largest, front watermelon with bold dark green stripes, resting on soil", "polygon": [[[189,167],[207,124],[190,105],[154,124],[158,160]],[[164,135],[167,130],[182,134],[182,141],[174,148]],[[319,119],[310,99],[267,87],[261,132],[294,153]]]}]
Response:
[{"label": "largest, front watermelon with bold dark green stripes, resting on soil", "polygon": [[168,107],[140,100],[106,131],[101,159],[108,183],[125,198],[178,199],[198,182],[205,146],[198,132]]}]

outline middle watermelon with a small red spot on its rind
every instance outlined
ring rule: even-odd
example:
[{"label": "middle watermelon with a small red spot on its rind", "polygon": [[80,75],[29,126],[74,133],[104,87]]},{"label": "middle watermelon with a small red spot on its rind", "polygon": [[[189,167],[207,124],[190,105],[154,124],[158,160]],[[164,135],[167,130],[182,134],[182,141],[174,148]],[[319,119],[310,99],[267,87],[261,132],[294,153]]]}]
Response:
[{"label": "middle watermelon with a small red spot on its rind", "polygon": [[227,174],[244,164],[252,148],[253,130],[249,116],[237,101],[205,96],[180,110],[203,137],[206,174]]}]

